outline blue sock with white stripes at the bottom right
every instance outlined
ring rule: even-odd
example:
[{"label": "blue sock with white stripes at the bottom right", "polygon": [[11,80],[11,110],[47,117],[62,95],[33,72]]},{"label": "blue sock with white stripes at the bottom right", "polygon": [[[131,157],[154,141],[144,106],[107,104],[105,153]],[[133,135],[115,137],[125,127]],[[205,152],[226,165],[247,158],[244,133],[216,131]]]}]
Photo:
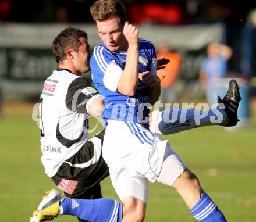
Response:
[{"label": "blue sock with white stripes at the bottom right", "polygon": [[190,213],[201,222],[226,222],[221,210],[205,192],[198,203],[190,210]]}]

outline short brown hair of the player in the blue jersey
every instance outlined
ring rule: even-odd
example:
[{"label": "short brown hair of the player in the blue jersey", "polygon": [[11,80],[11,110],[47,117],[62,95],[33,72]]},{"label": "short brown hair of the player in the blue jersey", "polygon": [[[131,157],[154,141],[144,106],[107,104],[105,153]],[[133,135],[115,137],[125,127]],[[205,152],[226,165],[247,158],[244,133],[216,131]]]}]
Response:
[{"label": "short brown hair of the player in the blue jersey", "polygon": [[120,19],[122,26],[126,22],[126,9],[120,0],[98,0],[90,8],[94,21],[105,21],[111,17]]}]

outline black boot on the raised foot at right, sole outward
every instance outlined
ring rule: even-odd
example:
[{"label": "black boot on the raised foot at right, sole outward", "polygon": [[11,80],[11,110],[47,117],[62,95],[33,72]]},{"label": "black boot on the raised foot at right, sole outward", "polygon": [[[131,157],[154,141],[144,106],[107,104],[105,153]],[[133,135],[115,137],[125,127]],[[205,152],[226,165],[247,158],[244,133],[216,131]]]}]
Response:
[{"label": "black boot on the raised foot at right, sole outward", "polygon": [[224,110],[227,114],[227,119],[221,123],[221,126],[233,127],[236,126],[239,119],[237,119],[237,109],[239,102],[241,100],[239,85],[236,80],[232,79],[229,81],[229,89],[227,89],[227,94],[221,99],[218,96],[218,103],[224,104]]}]

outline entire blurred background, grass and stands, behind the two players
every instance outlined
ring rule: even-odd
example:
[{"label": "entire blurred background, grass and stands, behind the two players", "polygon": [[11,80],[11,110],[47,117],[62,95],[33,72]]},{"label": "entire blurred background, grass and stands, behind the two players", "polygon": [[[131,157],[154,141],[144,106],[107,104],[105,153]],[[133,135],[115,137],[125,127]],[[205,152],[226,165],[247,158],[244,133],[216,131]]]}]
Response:
[{"label": "entire blurred background, grass and stands, behind the two players", "polygon": [[[51,49],[54,37],[64,28],[75,26],[87,32],[92,50],[101,43],[89,10],[93,2],[0,0],[3,221],[28,221],[27,216],[37,206],[44,189],[54,188],[43,173],[39,129],[31,113],[42,83],[56,69]],[[221,127],[205,127],[165,138],[179,148],[174,149],[201,176],[229,221],[255,221],[255,1],[123,2],[128,19],[140,30],[140,38],[152,41],[157,55],[171,61],[168,69],[158,72],[163,102],[211,104],[209,92],[223,96],[230,78],[239,82],[243,100],[238,128],[227,132]],[[209,48],[214,48],[214,56]],[[90,78],[90,73],[85,76]],[[225,141],[227,137],[230,141]],[[252,181],[247,183],[248,178]],[[117,198],[109,181],[104,183],[104,194]],[[186,206],[175,192],[169,194],[160,185],[151,189],[151,196],[146,221],[168,220],[165,212],[159,212],[166,209],[162,200],[167,203],[170,198],[171,207],[177,212],[172,221],[193,221],[189,214],[184,214]],[[58,220],[76,221],[71,217]]]}]

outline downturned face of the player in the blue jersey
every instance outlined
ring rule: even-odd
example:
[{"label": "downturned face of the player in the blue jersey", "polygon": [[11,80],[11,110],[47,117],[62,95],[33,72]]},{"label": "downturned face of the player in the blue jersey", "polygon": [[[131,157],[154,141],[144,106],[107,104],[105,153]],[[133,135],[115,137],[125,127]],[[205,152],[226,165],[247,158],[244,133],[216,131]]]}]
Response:
[{"label": "downturned face of the player in the blue jersey", "polygon": [[123,35],[123,27],[120,19],[111,17],[108,20],[96,21],[99,37],[109,51],[126,51],[126,38]]}]

